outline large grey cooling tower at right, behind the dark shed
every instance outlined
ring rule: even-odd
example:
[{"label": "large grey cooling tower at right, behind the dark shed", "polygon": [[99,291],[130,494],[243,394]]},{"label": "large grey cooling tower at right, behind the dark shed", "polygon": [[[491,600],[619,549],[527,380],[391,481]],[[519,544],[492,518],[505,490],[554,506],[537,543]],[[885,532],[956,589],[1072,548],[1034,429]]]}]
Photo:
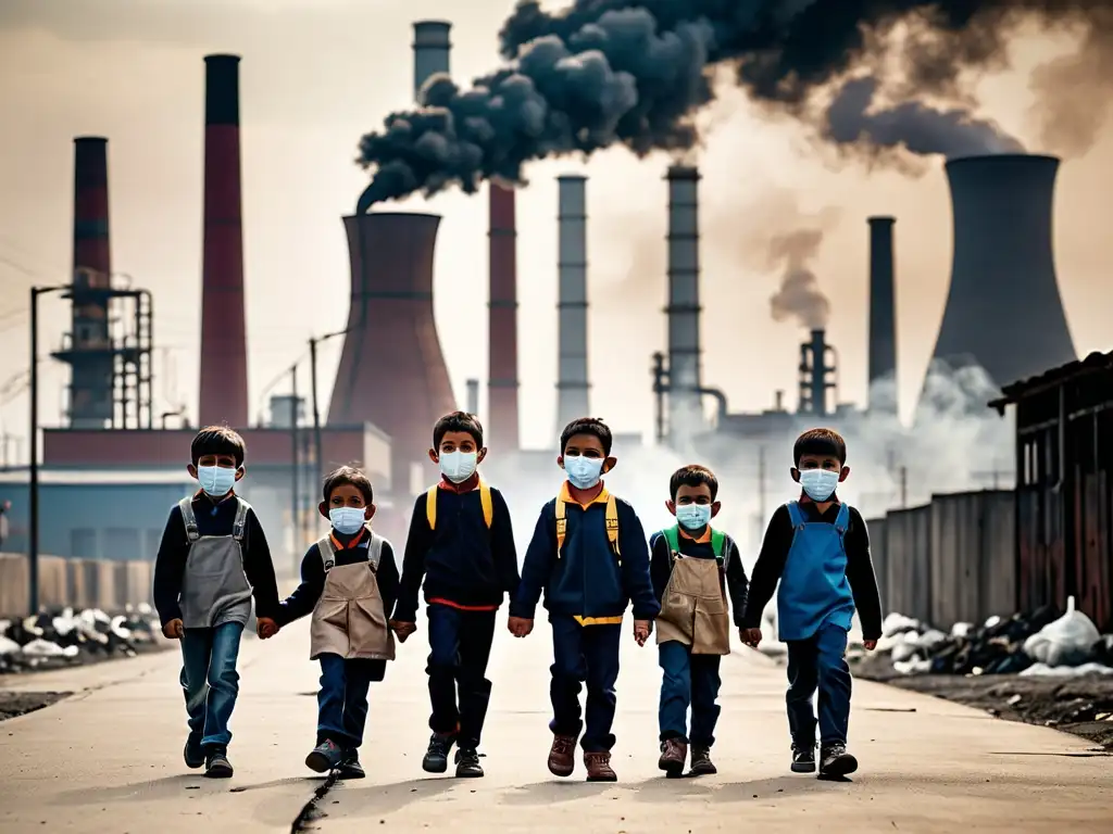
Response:
[{"label": "large grey cooling tower at right, behind the dark shed", "polygon": [[1052,254],[1058,159],[968,157],[946,169],[954,260],[933,358],[976,363],[997,386],[1076,359]]}]

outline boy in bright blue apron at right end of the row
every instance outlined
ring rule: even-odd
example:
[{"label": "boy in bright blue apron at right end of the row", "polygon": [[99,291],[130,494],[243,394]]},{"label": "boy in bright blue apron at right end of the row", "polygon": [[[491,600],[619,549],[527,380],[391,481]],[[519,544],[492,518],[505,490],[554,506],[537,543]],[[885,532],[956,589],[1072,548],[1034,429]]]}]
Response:
[{"label": "boy in bright blue apron at right end of the row", "polygon": [[754,567],[742,626],[747,645],[761,642],[761,614],[780,582],[777,627],[788,644],[788,726],[794,773],[816,770],[816,714],[819,688],[819,775],[854,773],[858,761],[846,751],[850,719],[847,633],[855,608],[866,649],[881,636],[881,603],[869,558],[869,534],[861,516],[835,490],[846,480],[846,441],[829,428],[814,428],[796,440],[792,480],[799,500],[778,507],[769,520]]}]

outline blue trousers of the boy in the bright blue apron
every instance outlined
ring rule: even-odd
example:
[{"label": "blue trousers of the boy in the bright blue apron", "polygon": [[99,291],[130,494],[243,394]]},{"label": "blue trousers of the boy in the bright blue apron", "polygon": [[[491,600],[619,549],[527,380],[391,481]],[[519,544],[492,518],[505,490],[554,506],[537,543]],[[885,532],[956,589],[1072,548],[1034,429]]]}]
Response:
[{"label": "blue trousers of the boy in the bright blue apron", "polygon": [[846,744],[850,723],[850,667],[846,663],[847,633],[821,625],[806,641],[788,643],[788,728],[805,747],[816,743],[816,713],[811,698],[819,689],[819,742]]}]

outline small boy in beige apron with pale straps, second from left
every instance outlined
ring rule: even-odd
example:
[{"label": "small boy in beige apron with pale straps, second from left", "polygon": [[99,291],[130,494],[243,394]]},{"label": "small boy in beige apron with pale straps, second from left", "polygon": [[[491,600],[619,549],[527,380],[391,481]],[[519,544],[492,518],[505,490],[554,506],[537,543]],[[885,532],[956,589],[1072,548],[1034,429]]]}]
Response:
[{"label": "small boy in beige apron with pale straps, second from left", "polygon": [[321,515],[332,532],[302,560],[302,584],[282,603],[279,627],[306,614],[309,659],[321,662],[317,746],[305,764],[317,773],[363,778],[359,745],[367,723],[367,689],[394,659],[386,617],[398,593],[391,543],[367,524],[375,515],[371,480],[342,466],[325,478]]}]

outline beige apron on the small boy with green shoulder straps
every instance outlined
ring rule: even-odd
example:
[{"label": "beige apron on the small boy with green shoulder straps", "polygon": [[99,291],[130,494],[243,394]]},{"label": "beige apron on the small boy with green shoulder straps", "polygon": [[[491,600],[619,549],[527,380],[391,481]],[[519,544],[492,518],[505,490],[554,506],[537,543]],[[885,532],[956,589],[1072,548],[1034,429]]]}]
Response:
[{"label": "beige apron on the small boy with green shoulder straps", "polygon": [[678,641],[691,646],[693,655],[729,655],[730,608],[719,562],[678,553],[671,558],[672,573],[657,616],[658,644]]}]

